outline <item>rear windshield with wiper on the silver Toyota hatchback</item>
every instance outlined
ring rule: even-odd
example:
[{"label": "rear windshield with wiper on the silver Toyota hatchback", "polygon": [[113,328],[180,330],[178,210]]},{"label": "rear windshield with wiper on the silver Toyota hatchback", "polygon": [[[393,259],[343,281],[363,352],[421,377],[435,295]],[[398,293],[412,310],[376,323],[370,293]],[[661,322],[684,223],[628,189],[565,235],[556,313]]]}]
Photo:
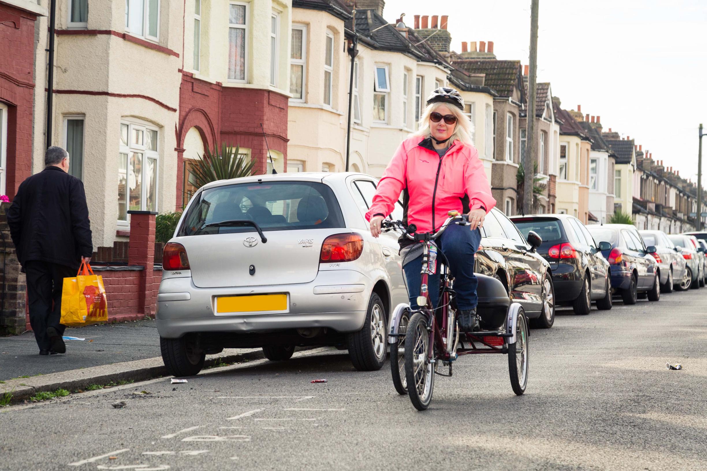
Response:
[{"label": "rear windshield with wiper on the silver Toyota hatchback", "polygon": [[253,232],[252,226],[209,226],[255,221],[263,231],[343,228],[334,192],[317,182],[239,183],[197,194],[177,236]]}]

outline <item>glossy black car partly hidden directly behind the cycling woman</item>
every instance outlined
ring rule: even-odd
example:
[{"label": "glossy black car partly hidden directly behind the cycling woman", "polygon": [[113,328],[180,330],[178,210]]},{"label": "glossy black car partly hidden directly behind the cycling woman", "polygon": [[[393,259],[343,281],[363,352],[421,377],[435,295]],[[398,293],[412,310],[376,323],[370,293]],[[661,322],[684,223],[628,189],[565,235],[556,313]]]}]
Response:
[{"label": "glossy black car partly hidden directly behind the cycling woman", "polygon": [[550,265],[537,247],[542,239],[535,233],[524,237],[513,222],[492,209],[481,228],[477,252],[477,273],[500,279],[511,301],[518,301],[534,327],[549,328],[555,321],[555,289]]}]

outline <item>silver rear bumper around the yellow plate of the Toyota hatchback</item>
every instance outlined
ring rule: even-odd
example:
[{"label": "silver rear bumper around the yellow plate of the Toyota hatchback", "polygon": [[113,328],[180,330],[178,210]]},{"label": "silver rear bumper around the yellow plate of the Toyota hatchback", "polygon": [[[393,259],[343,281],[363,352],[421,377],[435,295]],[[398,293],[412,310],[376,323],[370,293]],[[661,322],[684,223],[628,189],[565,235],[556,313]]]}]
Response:
[{"label": "silver rear bumper around the yellow plate of the Toyota hatchback", "polygon": [[[191,278],[160,283],[157,330],[160,337],[189,332],[272,332],[328,327],[339,332],[361,330],[373,282],[354,270],[323,271],[303,284],[197,288]],[[218,296],[286,293],[286,312],[216,313]]]}]

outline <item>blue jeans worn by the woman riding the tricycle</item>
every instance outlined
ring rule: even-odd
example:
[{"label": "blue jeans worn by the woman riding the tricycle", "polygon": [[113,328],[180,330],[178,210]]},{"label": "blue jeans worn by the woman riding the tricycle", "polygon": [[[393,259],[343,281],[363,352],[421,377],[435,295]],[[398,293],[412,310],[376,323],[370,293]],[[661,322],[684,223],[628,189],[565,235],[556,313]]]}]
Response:
[{"label": "blue jeans worn by the woman riding the tricycle", "polygon": [[[450,224],[445,228],[442,237],[437,240],[438,245],[447,257],[449,268],[454,274],[454,291],[457,293],[457,307],[460,310],[474,309],[477,307],[479,298],[477,296],[477,286],[479,281],[474,274],[474,254],[479,250],[481,243],[481,232],[479,229],[469,230],[469,226],[459,226]],[[430,301],[432,306],[437,307],[439,300],[440,286],[440,262],[443,257],[437,257],[437,270],[433,275],[428,275],[428,286]],[[407,281],[407,292],[410,296],[410,306],[417,306],[417,296],[420,295],[422,269],[422,255],[415,260],[405,264],[403,270]]]}]

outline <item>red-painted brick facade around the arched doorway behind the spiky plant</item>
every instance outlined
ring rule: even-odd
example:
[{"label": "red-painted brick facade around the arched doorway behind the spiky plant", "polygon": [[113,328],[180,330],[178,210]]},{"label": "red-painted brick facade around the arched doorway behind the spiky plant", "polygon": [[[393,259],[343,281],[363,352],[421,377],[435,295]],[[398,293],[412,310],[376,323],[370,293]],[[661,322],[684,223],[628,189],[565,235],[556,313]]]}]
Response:
[{"label": "red-painted brick facade around the arched doorway behind the spiky plant", "polygon": [[196,127],[204,148],[214,149],[224,142],[251,150],[256,159],[255,173],[265,173],[267,144],[279,151],[287,163],[287,110],[285,95],[259,88],[224,87],[194,79],[182,71],[180,88],[180,116],[177,126],[177,210],[182,209],[184,185],[184,140],[187,132]]}]

